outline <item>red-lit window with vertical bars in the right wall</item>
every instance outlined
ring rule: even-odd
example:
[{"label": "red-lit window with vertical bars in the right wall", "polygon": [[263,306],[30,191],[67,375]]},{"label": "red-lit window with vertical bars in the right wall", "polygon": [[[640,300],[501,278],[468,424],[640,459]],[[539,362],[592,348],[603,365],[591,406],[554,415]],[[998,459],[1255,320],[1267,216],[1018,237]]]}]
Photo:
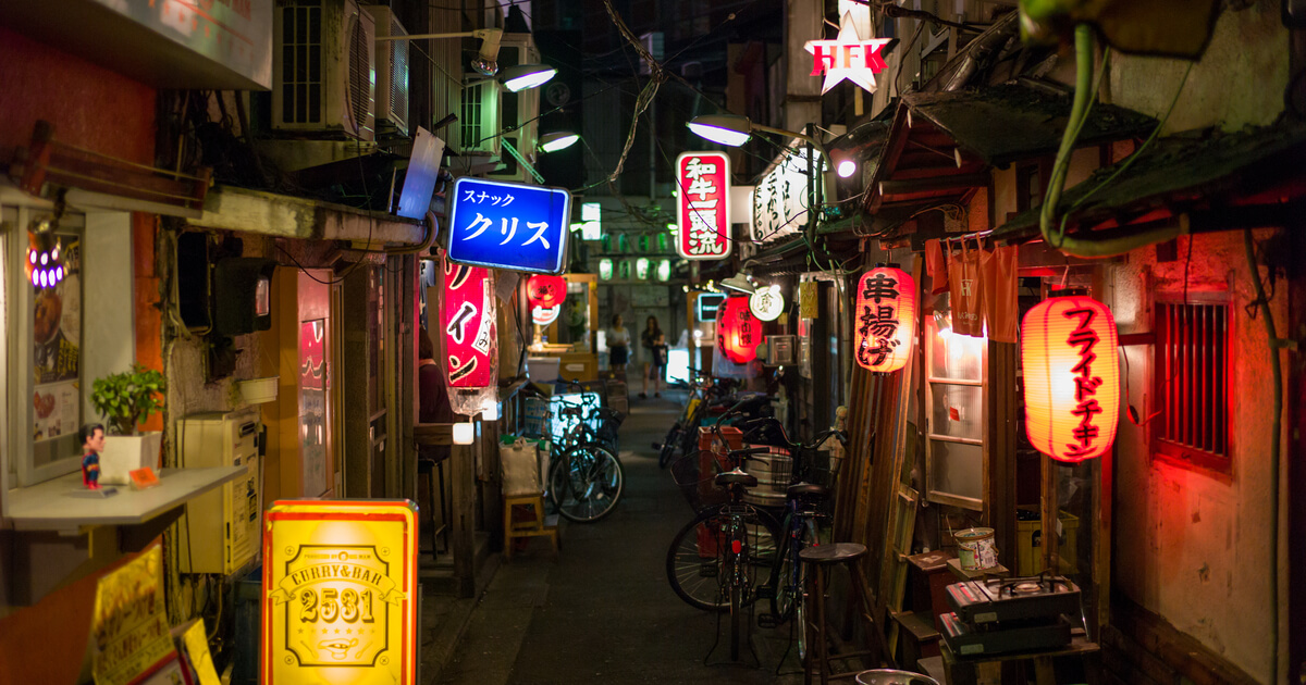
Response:
[{"label": "red-lit window with vertical bars in the right wall", "polygon": [[1152,454],[1229,475],[1229,296],[1157,295],[1153,316]]}]

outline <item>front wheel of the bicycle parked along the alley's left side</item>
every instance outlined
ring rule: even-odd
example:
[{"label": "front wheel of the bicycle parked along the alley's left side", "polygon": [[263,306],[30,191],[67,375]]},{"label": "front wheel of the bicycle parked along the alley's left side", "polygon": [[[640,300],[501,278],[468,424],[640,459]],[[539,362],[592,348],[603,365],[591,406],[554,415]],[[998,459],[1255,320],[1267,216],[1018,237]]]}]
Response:
[{"label": "front wheel of the bicycle parked along the alley's left side", "polygon": [[622,462],[602,445],[577,445],[549,470],[550,501],[559,514],[577,523],[611,514],[624,489]]}]

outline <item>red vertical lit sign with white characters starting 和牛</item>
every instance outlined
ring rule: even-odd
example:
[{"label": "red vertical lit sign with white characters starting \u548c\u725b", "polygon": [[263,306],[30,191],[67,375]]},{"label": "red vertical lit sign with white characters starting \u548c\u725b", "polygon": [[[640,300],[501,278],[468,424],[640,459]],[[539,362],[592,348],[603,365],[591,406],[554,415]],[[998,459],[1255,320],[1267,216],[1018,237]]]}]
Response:
[{"label": "red vertical lit sign with white characters starting \u548c\u725b", "polygon": [[684,153],[675,159],[678,237],[686,260],[730,256],[730,158],[725,153]]}]

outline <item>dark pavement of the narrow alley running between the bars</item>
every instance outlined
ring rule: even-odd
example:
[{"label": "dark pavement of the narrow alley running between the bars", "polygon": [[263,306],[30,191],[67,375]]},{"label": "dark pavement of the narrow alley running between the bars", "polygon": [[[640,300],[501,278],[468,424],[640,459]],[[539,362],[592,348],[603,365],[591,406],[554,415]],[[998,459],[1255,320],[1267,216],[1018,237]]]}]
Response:
[{"label": "dark pavement of the narrow alley running between the bars", "polygon": [[731,664],[727,617],[709,655],[717,616],[687,605],[667,585],[666,549],[692,509],[658,468],[652,444],[675,420],[679,394],[632,401],[620,429],[627,489],[616,511],[593,525],[563,522],[556,557],[535,538],[500,562],[449,663],[422,664],[426,682],[802,681],[794,650],[785,655],[789,625],[761,629],[754,621],[756,656],[746,651]]}]

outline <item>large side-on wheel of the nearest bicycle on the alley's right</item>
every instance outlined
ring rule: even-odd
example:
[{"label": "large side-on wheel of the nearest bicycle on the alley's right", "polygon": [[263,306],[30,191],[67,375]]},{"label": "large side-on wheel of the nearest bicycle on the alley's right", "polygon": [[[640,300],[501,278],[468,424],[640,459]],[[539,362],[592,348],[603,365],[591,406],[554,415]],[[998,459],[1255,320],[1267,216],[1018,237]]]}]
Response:
[{"label": "large side-on wheel of the nearest bicycle on the alley's right", "polygon": [[[780,543],[776,517],[748,505],[712,506],[680,528],[666,551],[666,579],[686,604],[703,611],[730,608],[727,591],[730,579],[725,555],[730,544],[730,517],[735,511],[744,518],[748,530],[750,552],[746,571],[752,581],[748,587],[755,588],[771,581]],[[754,594],[750,592],[741,598],[741,603],[747,605],[752,599]]]}]

